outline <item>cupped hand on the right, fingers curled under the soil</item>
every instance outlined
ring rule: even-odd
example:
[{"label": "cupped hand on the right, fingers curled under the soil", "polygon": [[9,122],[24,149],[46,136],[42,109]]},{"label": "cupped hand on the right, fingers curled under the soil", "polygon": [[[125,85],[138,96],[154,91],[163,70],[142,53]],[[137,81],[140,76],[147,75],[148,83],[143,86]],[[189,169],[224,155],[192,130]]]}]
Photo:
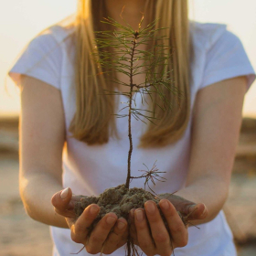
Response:
[{"label": "cupped hand on the right, fingers curled under the soil", "polygon": [[[182,197],[180,197],[182,198]],[[183,199],[183,198],[182,198]],[[178,201],[178,198],[176,198]],[[182,208],[190,219],[204,219],[207,208],[203,204],[194,204],[183,199],[183,203],[176,205]],[[185,204],[186,207],[182,207]],[[171,255],[175,248],[187,245],[187,226],[177,213],[177,209],[169,200],[161,199],[159,202],[168,230],[154,201],[147,201],[144,208],[132,209],[130,212],[130,234],[134,244],[138,245],[146,255]],[[186,209],[187,208],[187,209]],[[198,209],[197,214],[194,214]],[[169,235],[170,234],[170,235]]]}]

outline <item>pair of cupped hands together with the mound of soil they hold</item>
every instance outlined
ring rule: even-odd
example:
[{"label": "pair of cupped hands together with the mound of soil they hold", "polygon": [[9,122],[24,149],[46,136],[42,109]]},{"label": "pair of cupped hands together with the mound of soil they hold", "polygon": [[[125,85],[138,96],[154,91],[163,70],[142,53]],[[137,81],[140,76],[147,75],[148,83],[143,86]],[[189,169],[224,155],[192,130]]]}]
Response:
[{"label": "pair of cupped hands together with the mound of soil they hold", "polygon": [[[65,217],[71,239],[93,254],[110,254],[132,241],[146,254],[170,255],[176,247],[187,245],[187,220],[207,217],[204,204],[168,193],[154,197],[139,188],[129,191],[119,186],[105,190],[100,197],[84,197],[72,195],[68,188],[52,197],[52,205]],[[123,193],[125,196],[120,197]],[[144,196],[138,195],[140,193]],[[101,198],[107,202],[108,196],[116,197],[119,205],[111,208],[104,204]],[[137,196],[144,200],[137,200]],[[140,207],[133,208],[132,201]]]}]

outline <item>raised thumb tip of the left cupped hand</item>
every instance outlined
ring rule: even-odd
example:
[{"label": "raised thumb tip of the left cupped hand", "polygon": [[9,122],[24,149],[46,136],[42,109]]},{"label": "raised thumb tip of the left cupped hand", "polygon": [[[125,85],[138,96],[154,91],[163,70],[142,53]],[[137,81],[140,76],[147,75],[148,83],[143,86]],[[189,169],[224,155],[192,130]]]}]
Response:
[{"label": "raised thumb tip of the left cupped hand", "polygon": [[69,202],[72,197],[71,188],[67,187],[51,197],[51,204],[59,209],[59,211],[66,210],[69,208]]}]

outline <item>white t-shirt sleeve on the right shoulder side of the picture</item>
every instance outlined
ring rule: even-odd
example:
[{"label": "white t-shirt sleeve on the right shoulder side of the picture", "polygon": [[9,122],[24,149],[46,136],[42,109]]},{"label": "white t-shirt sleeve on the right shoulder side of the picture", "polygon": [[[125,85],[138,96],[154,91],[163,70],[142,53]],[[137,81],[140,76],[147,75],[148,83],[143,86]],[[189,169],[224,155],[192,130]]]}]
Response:
[{"label": "white t-shirt sleeve on the right shoulder side of the picture", "polygon": [[234,77],[247,77],[247,91],[255,80],[255,70],[240,41],[240,38],[229,30],[208,48],[206,65],[200,89]]}]

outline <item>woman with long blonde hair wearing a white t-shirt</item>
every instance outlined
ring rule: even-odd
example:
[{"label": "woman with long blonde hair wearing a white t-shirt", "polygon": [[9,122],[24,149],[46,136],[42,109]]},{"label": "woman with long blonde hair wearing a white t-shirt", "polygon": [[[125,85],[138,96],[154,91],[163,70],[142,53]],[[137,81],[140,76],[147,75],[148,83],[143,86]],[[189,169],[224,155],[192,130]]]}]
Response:
[{"label": "woman with long blonde hair wearing a white t-shirt", "polygon": [[[118,101],[98,97],[104,89],[125,88],[112,87],[106,77],[95,80],[97,69],[89,59],[93,29],[102,30],[99,21],[105,16],[123,25],[125,19],[136,29],[142,13],[143,26],[161,17],[157,26],[170,27],[168,43],[176,47],[173,76],[185,95],[177,104],[166,94],[174,111],[157,112],[156,126],[132,120],[134,176],[143,163],[153,165],[156,159],[166,172],[167,181],[154,189],[172,239],[155,203],[148,201],[145,209],[131,211],[129,225],[109,213],[87,241],[99,207],[91,205],[75,219],[76,195],[99,195],[122,184],[128,152],[126,120],[111,115],[125,96]],[[124,255],[128,230],[146,255],[171,255],[174,249],[176,256],[236,255],[221,208],[228,197],[244,94],[255,80],[240,39],[225,25],[189,22],[185,0],[80,0],[76,21],[72,18],[34,38],[9,71],[22,87],[20,195],[27,214],[50,226],[53,255],[69,255],[83,245],[80,255],[100,253],[103,243],[103,253]],[[116,76],[125,81],[121,73]],[[134,79],[143,80],[143,75]],[[133,187],[143,184],[133,181]],[[176,210],[191,214],[191,223],[200,229],[185,227]]]}]

